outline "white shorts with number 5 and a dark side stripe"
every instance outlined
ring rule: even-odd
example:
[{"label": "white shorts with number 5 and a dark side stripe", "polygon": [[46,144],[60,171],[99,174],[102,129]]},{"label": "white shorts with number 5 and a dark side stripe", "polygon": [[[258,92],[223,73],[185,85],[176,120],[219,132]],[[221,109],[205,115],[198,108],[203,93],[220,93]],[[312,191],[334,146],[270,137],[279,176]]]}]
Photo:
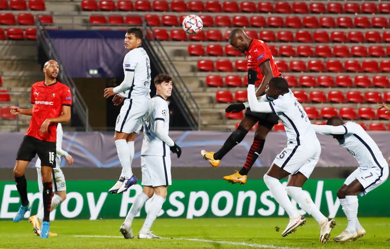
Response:
[{"label": "white shorts with number 5 and a dark side stripe", "polygon": [[282,152],[275,157],[273,163],[290,174],[298,171],[306,178],[312,174],[321,155],[321,144],[315,141],[304,142],[300,145],[289,143]]}]

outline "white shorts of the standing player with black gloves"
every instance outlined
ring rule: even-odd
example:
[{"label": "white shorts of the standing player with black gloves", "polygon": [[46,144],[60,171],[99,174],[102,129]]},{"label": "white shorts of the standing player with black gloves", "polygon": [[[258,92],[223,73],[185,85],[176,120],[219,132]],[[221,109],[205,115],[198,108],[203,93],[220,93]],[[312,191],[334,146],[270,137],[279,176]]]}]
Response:
[{"label": "white shorts of the standing player with black gloves", "polygon": [[171,157],[141,156],[141,170],[143,186],[172,185]]}]

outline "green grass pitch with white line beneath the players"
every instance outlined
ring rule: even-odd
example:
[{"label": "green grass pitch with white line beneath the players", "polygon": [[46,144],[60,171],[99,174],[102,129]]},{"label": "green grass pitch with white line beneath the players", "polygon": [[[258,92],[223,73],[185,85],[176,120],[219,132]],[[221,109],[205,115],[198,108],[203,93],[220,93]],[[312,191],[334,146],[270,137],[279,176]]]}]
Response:
[{"label": "green grass pitch with white line beneath the players", "polygon": [[[288,218],[198,218],[158,219],[152,230],[164,239],[123,239],[119,232],[122,219],[55,220],[51,231],[56,237],[40,239],[32,232],[28,220],[19,223],[0,222],[0,249],[248,249],[248,248],[390,248],[390,218],[360,218],[367,235],[354,242],[338,244],[329,240],[319,244],[319,226],[308,218],[306,225],[286,238],[280,234]],[[143,219],[135,219],[133,232],[141,228]],[[331,238],[346,228],[346,218],[336,218]],[[275,231],[279,227],[280,231]]]}]

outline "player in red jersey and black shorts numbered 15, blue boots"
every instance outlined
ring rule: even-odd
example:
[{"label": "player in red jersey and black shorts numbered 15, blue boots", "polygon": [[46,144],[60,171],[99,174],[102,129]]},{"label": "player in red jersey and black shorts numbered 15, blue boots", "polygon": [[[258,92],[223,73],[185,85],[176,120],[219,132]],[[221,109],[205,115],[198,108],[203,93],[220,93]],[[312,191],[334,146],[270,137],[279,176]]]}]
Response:
[{"label": "player in red jersey and black shorts numbered 15, blue boots", "polygon": [[27,198],[27,182],[24,171],[28,163],[38,154],[41,160],[43,182],[43,224],[41,238],[49,236],[49,214],[53,194],[52,170],[56,167],[57,124],[68,123],[71,117],[72,94],[70,89],[57,81],[59,65],[49,60],[43,66],[45,80],[36,82],[31,88],[31,109],[12,106],[11,114],[31,117],[30,126],[20,144],[14,168],[15,183],[20,194],[21,205],[14,218],[20,221],[24,213],[31,210]]}]

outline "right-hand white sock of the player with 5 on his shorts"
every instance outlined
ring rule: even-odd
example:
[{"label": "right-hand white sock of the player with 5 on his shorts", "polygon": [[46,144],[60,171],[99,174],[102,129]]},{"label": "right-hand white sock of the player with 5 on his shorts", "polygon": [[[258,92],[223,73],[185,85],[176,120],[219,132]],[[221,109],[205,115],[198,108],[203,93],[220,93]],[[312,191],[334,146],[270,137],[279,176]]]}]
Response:
[{"label": "right-hand white sock of the player with 5 on his shorts", "polygon": [[315,206],[312,198],[299,187],[287,186],[287,194],[292,197],[298,203],[299,207],[303,209],[306,213],[313,216],[313,218],[322,225],[328,220],[324,214],[319,211],[317,206]]}]

